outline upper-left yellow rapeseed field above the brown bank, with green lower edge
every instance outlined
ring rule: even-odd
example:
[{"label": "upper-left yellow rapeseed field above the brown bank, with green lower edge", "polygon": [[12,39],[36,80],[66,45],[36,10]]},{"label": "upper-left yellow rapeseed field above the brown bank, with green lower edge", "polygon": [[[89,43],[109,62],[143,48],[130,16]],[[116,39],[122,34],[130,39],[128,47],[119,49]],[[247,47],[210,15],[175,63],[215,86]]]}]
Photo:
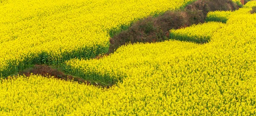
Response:
[{"label": "upper-left yellow rapeseed field above the brown bank, with green lower edge", "polygon": [[0,0],[0,76],[108,52],[109,31],[195,0]]}]

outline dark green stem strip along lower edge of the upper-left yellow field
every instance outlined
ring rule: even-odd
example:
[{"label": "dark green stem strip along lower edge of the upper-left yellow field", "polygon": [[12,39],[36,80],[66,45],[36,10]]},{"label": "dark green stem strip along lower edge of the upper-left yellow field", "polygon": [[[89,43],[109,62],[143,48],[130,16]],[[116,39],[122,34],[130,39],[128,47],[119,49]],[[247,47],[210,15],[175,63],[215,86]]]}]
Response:
[{"label": "dark green stem strip along lower edge of the upper-left yellow field", "polygon": [[22,71],[23,69],[28,68],[31,65],[60,65],[63,62],[78,58],[78,59],[90,59],[98,56],[99,54],[108,52],[108,47],[102,47],[101,45],[96,45],[92,48],[81,48],[79,51],[73,50],[70,52],[64,52],[61,57],[52,57],[54,55],[49,54],[45,51],[42,51],[40,54],[30,54],[21,61],[13,60],[9,61],[6,68],[1,71],[1,77],[6,77],[9,75],[17,74],[17,72]]}]

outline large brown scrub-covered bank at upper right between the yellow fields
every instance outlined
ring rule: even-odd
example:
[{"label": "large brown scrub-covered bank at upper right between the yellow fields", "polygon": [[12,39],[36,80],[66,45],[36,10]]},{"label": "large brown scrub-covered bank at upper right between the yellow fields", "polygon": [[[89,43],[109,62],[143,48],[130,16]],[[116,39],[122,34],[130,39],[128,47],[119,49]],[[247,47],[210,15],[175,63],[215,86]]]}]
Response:
[{"label": "large brown scrub-covered bank at upper right between the yellow fields", "polygon": [[166,11],[158,17],[146,17],[132,23],[130,27],[122,25],[121,28],[126,30],[110,39],[108,54],[128,43],[169,40],[169,30],[204,23],[209,11],[234,11],[239,7],[241,6],[231,0],[197,0],[183,10]]}]

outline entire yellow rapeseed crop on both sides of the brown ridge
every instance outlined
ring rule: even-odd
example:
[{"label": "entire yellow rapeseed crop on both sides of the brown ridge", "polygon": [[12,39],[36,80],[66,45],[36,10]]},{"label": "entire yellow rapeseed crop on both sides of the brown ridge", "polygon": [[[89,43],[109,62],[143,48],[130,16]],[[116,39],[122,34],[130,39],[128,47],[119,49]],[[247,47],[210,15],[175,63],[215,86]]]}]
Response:
[{"label": "entire yellow rapeseed crop on both sides of the brown ridge", "polygon": [[0,79],[0,115],[256,115],[256,1],[209,12],[206,23],[171,29],[164,42],[90,59],[108,52],[111,29],[193,1],[1,1],[2,77],[61,64],[68,74],[112,86],[10,76]]}]

